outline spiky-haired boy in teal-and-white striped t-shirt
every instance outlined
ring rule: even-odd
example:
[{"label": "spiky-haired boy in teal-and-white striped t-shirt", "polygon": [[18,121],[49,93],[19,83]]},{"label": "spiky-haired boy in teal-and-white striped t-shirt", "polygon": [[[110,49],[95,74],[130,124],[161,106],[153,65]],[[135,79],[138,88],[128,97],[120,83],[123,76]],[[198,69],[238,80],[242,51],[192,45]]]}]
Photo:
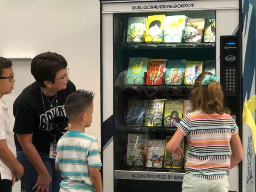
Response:
[{"label": "spiky-haired boy in teal-and-white striped t-shirt", "polygon": [[77,90],[65,102],[72,127],[57,145],[55,169],[64,178],[60,192],[103,192],[98,141],[84,133],[84,128],[92,122],[93,98],[93,92]]}]

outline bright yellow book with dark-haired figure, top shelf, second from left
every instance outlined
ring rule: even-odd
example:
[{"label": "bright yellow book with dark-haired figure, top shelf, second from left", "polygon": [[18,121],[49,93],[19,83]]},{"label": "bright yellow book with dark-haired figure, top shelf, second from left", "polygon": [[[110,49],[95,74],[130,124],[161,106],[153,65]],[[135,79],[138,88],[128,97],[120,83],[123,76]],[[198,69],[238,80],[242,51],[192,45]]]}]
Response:
[{"label": "bright yellow book with dark-haired figure, top shelf, second from left", "polygon": [[145,42],[161,43],[163,41],[163,29],[165,15],[150,15],[147,19]]}]

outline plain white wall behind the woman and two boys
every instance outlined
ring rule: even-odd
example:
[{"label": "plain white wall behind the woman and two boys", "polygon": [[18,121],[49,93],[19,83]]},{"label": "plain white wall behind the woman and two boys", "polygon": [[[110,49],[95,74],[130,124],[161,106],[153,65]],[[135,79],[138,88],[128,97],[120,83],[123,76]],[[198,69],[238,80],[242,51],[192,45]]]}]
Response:
[{"label": "plain white wall behind the woman and two boys", "polygon": [[[63,55],[77,89],[96,93],[93,123],[86,132],[100,145],[99,16],[99,0],[1,0],[0,6],[0,55],[33,58],[46,51]],[[10,110],[18,93],[33,81],[29,62],[14,62],[14,94],[3,97]]]}]

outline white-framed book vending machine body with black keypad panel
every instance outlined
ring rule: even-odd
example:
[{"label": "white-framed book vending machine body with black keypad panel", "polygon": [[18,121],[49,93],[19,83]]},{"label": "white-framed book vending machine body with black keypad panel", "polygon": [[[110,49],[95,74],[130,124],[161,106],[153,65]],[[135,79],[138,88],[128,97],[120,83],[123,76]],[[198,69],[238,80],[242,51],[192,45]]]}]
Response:
[{"label": "white-framed book vending machine body with black keypad panel", "polygon": [[[120,104],[115,84],[117,79],[125,79],[126,81],[125,67],[128,67],[129,57],[140,57],[140,55],[141,57],[151,57],[154,54],[159,54],[161,58],[172,53],[179,58],[178,55],[186,50],[186,52],[190,52],[187,57],[191,61],[199,58],[198,53],[204,55],[201,56],[204,61],[209,58],[214,59],[216,74],[221,76],[225,103],[232,110],[232,115],[240,128],[239,135],[242,138],[241,8],[242,0],[100,0],[101,154],[104,192],[133,192],[141,186],[144,186],[144,191],[148,192],[179,192],[185,174],[184,170],[181,169],[145,169],[136,167],[135,164],[132,167],[121,165],[126,160],[123,149],[125,148],[125,140],[127,147],[127,134],[119,134],[120,131],[123,132],[125,129],[126,133],[129,131],[129,133],[139,133],[143,129],[125,126],[125,121],[123,121],[125,114],[119,113],[120,111],[123,112],[122,110],[125,107],[127,108],[127,105]],[[146,17],[151,14],[161,15],[161,13],[163,15],[186,13],[195,18],[204,14],[214,15],[216,20],[216,42],[201,44],[187,42],[180,44],[126,43],[125,30],[127,30],[128,17]],[[192,87],[191,85],[142,87],[137,85],[127,86],[127,84],[122,86],[123,89],[121,91],[118,89],[118,91],[122,94],[121,97],[126,99],[134,97],[134,92],[136,92],[136,96],[160,92],[160,94],[164,94],[165,98],[169,99],[169,94],[177,98],[180,93],[188,94]],[[129,91],[124,91],[127,89]],[[185,98],[185,95],[183,96]],[[159,95],[154,99],[159,99]],[[120,118],[123,125],[117,126],[116,122]],[[147,128],[147,131],[148,134],[156,135],[156,133],[159,133],[159,135],[162,135],[166,134],[166,131],[173,130],[163,128],[159,132],[158,128]],[[242,174],[242,163],[240,163],[231,171],[229,176],[230,191],[242,192]],[[164,187],[157,189],[154,186]]]}]

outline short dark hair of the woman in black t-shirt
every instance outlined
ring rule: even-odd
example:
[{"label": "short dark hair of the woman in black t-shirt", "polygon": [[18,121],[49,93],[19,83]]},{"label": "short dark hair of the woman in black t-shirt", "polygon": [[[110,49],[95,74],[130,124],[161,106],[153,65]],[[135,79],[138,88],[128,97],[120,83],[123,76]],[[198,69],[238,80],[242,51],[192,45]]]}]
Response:
[{"label": "short dark hair of the woman in black t-shirt", "polygon": [[31,73],[40,87],[46,87],[44,81],[55,82],[56,73],[67,67],[67,61],[58,53],[44,52],[36,55],[31,62]]}]

